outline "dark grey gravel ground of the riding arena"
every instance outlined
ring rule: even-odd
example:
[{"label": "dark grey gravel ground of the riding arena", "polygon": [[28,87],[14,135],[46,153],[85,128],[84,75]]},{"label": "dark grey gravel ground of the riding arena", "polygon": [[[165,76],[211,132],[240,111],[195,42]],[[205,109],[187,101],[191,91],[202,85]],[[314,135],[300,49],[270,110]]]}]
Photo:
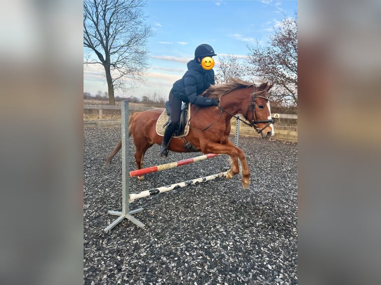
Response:
[{"label": "dark grey gravel ground of the riding arena", "polygon": [[[120,127],[84,128],[84,284],[297,284],[297,143],[240,137],[251,171],[250,188],[233,179],[212,181],[138,199],[121,211],[121,151],[110,167],[104,157],[120,140]],[[234,136],[231,137],[234,142]],[[136,169],[130,140],[130,170]],[[202,153],[145,156],[145,166]],[[222,172],[227,156],[130,179],[130,193]]]}]

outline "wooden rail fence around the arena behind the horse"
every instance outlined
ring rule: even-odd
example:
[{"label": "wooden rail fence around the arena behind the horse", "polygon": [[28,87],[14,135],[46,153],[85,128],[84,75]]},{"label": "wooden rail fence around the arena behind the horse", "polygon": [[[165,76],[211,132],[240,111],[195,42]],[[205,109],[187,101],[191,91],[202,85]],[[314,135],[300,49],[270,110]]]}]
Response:
[{"label": "wooden rail fence around the arena behind the horse", "polygon": [[[110,106],[110,105],[84,105],[84,109],[95,109],[99,110],[99,118],[95,120],[84,120],[84,127],[113,127],[113,126],[121,126],[121,119],[112,119],[112,120],[105,120],[102,119],[103,114],[102,110],[120,110],[120,106]],[[150,107],[145,108],[130,108],[130,111],[144,111],[151,109]],[[297,115],[295,114],[272,114],[273,119],[294,119],[297,120]],[[278,127],[278,128],[277,128]],[[282,129],[293,129],[293,130],[282,130]],[[235,135],[235,129],[236,129],[236,122],[235,120],[232,120],[232,126],[231,126],[231,134]],[[284,141],[291,141],[291,142],[297,142],[297,127],[287,127],[287,126],[277,126],[277,124],[274,124],[274,131],[275,131],[275,139],[278,140],[284,140]],[[294,131],[296,130],[296,131]],[[246,126],[245,124],[239,125],[239,134],[243,136],[258,136],[258,134],[253,131],[253,129],[249,126]]]}]

